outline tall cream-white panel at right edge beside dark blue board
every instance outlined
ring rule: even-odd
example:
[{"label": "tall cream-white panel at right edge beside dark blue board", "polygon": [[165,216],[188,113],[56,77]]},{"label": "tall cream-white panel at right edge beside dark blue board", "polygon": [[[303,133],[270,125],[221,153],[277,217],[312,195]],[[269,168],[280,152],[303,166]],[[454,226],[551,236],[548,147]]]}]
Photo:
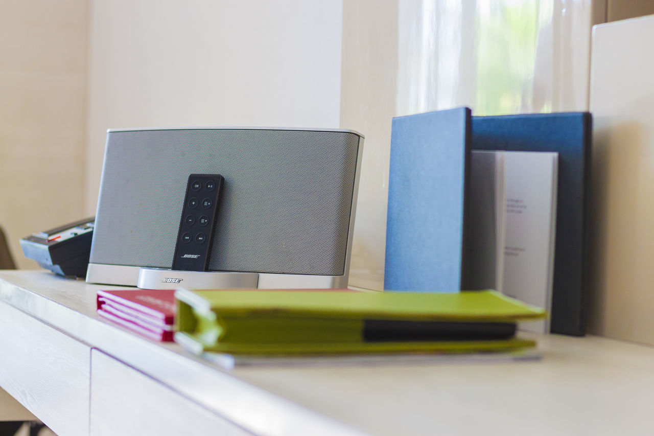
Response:
[{"label": "tall cream-white panel at right edge beside dark blue board", "polygon": [[593,333],[654,345],[654,16],[593,33]]}]

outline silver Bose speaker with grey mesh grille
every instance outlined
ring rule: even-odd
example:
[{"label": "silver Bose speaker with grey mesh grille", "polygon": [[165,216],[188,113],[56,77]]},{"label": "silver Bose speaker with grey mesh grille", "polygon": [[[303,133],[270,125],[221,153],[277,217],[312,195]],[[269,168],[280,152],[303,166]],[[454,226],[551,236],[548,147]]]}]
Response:
[{"label": "silver Bose speaker with grey mesh grille", "polygon": [[109,130],[86,281],[137,285],[143,268],[162,277],[188,176],[218,173],[211,272],[258,274],[258,287],[346,287],[363,139],[330,129]]}]

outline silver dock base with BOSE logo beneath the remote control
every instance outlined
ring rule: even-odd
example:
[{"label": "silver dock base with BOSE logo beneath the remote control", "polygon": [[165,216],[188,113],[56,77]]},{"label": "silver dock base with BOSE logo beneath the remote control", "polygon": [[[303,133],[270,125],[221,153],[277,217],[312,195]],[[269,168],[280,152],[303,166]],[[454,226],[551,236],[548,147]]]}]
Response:
[{"label": "silver dock base with BOSE logo beneath the remote control", "polygon": [[140,268],[137,286],[141,289],[256,289],[256,272],[179,271],[167,268]]}]

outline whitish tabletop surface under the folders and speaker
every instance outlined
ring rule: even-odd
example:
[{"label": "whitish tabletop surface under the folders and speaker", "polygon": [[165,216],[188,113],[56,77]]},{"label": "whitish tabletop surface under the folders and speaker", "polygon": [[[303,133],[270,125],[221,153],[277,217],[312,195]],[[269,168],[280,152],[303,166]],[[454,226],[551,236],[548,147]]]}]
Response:
[{"label": "whitish tabletop surface under the folders and speaker", "polygon": [[[253,433],[652,434],[654,349],[530,335],[540,361],[222,369],[95,314],[97,289],[49,272],[0,272],[0,300],[99,348]],[[526,336],[526,335],[525,335]]]}]

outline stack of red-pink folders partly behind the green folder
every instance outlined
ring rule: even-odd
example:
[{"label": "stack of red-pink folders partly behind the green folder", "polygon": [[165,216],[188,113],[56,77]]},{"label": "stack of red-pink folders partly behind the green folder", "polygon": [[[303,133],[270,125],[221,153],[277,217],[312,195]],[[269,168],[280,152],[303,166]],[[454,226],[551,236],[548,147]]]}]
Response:
[{"label": "stack of red-pink folders partly behind the green folder", "polygon": [[97,313],[153,340],[173,340],[173,289],[97,291]]}]

